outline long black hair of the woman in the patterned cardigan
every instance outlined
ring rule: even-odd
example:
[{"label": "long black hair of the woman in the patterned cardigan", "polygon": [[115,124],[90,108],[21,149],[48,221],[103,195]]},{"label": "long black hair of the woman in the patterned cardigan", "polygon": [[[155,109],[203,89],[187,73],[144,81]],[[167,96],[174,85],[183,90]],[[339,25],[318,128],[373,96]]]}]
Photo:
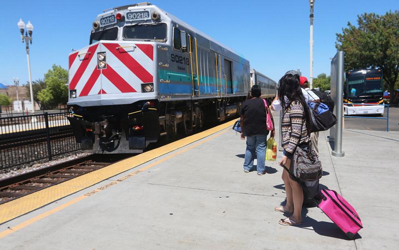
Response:
[{"label": "long black hair of the woman in the patterned cardigan", "polygon": [[[286,102],[285,96],[287,96],[288,102]],[[301,86],[299,85],[299,74],[285,74],[281,77],[279,80],[279,100],[283,110],[291,105],[294,100],[298,100],[302,103],[303,109],[305,110],[306,128],[308,133],[310,133],[310,112],[305,97],[302,94]]]}]

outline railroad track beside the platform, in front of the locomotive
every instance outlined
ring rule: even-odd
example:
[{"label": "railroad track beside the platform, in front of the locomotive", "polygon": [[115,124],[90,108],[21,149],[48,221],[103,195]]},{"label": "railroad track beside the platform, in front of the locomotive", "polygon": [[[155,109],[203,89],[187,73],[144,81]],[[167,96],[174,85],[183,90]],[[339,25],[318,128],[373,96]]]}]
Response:
[{"label": "railroad track beside the platform, in front of the locomotive", "polygon": [[100,169],[129,155],[106,156],[92,154],[0,180],[0,204]]}]

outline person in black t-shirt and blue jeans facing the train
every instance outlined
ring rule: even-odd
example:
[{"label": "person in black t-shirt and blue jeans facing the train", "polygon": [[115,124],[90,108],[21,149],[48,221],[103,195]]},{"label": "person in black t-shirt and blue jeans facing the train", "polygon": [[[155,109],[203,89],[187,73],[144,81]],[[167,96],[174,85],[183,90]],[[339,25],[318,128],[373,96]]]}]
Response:
[{"label": "person in black t-shirt and blue jeans facing the train", "polygon": [[[259,175],[266,173],[266,136],[269,130],[266,129],[267,112],[273,121],[270,108],[266,110],[261,96],[261,88],[259,85],[253,85],[251,88],[251,99],[247,99],[241,106],[241,139],[247,137],[247,149],[245,150],[244,172],[249,172],[254,166],[255,155],[257,156],[257,171]],[[274,124],[274,121],[273,121]],[[271,132],[274,136],[274,130]],[[255,154],[256,153],[256,154]]]}]

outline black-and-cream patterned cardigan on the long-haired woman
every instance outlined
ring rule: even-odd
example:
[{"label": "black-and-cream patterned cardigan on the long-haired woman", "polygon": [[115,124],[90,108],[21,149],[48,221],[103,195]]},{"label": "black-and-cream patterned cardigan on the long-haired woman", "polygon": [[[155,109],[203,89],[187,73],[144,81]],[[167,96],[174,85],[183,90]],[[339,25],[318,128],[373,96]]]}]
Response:
[{"label": "black-and-cream patterned cardigan on the long-haired woman", "polygon": [[285,108],[281,120],[283,147],[288,158],[292,158],[295,149],[302,143],[310,141],[310,134],[306,128],[305,110],[302,103],[294,100]]}]

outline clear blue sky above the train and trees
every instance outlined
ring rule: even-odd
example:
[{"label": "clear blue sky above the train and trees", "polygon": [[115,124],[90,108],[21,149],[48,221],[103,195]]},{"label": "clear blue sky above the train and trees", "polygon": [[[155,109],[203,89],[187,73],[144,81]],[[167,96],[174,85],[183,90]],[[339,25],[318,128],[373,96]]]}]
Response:
[{"label": "clear blue sky above the train and trees", "polygon": [[[140,2],[142,0],[137,0]],[[28,80],[25,45],[19,18],[34,25],[32,79],[43,78],[52,64],[68,67],[71,48],[89,42],[91,24],[102,10],[134,0],[0,0],[0,82]],[[202,30],[244,55],[258,71],[278,80],[289,69],[309,75],[308,0],[152,0],[153,4]],[[384,14],[398,9],[397,0],[316,0],[314,77],[330,74],[335,33],[364,12]],[[7,10],[7,11],[6,11]]]}]

